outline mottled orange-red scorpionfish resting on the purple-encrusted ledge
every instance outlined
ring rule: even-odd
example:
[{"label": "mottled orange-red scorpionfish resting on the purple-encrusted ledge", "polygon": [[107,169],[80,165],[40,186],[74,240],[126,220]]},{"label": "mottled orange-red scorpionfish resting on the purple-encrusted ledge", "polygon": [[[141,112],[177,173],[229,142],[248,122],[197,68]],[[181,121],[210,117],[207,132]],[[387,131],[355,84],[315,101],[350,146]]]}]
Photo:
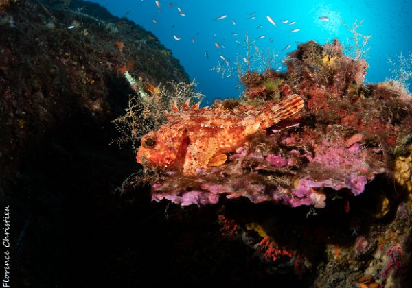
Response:
[{"label": "mottled orange-red scorpionfish resting on the purple-encrusted ledge", "polygon": [[201,108],[199,103],[183,104],[181,111],[174,104],[167,115],[168,123],[141,138],[137,162],[162,169],[183,169],[184,175],[194,175],[198,168],[219,166],[227,154],[235,152],[254,133],[264,133],[304,107],[296,94],[286,99],[268,101],[260,107],[236,106],[233,110]]}]

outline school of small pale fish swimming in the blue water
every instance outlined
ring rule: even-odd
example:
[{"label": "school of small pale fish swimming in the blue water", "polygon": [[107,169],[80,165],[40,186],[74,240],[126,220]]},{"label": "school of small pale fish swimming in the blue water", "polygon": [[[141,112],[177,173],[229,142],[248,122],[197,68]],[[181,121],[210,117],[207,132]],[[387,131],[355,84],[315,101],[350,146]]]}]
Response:
[{"label": "school of small pale fish swimming in the blue water", "polygon": [[[182,8],[181,7],[178,7],[178,6],[176,6],[176,5],[174,5],[174,3],[170,3],[170,2],[168,2],[168,3],[163,3],[163,5],[162,5],[162,3],[161,3],[161,0],[156,0],[155,1],[155,7],[157,8],[157,10],[158,10],[158,12],[159,13],[162,13],[162,11],[161,11],[161,7],[169,7],[169,8],[173,8],[173,7],[176,7],[176,9],[177,9],[177,12],[178,12],[178,14],[179,14],[179,16],[183,16],[183,17],[185,17],[186,16],[186,14],[183,12],[183,10],[182,10]],[[215,15],[215,17],[214,18],[212,18],[211,20],[214,20],[214,21],[218,21],[218,22],[222,22],[222,23],[227,23],[227,21],[230,21],[229,23],[231,23],[233,26],[236,26],[236,21],[235,21],[235,19],[234,18],[231,18],[230,16],[232,16],[233,17],[233,15],[230,15],[230,14],[220,14],[220,15]],[[246,14],[246,16],[244,17],[244,21],[253,21],[253,22],[257,22],[258,21],[258,19],[262,19],[264,16],[262,16],[262,15],[260,15],[260,14],[257,14],[256,12],[250,12],[250,13],[247,13]],[[318,17],[318,19],[319,19],[319,21],[330,21],[330,18],[328,17],[328,16],[325,16],[325,15],[323,15],[323,16],[319,16]],[[239,20],[239,19],[238,19]],[[278,19],[279,20],[279,22],[280,23],[283,23],[284,25],[295,25],[296,24],[296,21],[291,21],[290,19],[286,19],[286,18],[284,18],[284,19]],[[264,30],[264,29],[273,29],[273,28],[278,28],[279,29],[279,27],[277,26],[277,23],[276,23],[276,21],[274,20],[274,18],[272,18],[272,16],[270,16],[269,14],[266,14],[266,21],[268,21],[269,23],[271,23],[271,27],[269,27],[269,28],[267,28],[267,25],[264,25],[264,23],[260,23],[259,25],[257,25],[257,26],[255,26],[256,27],[256,30]],[[155,23],[155,24],[157,24],[158,23],[158,19],[152,19],[152,23]],[[222,25],[224,25],[224,24],[222,24]],[[287,26],[284,26],[284,25],[280,25],[280,28],[281,29],[284,29],[284,28],[282,28],[282,27],[287,27]],[[174,24],[172,25],[172,28],[174,28]],[[268,26],[270,26],[270,25],[268,25]],[[237,27],[237,26],[236,26]],[[72,29],[73,27],[68,27],[67,29]],[[295,29],[290,29],[290,30],[288,30],[288,32],[289,33],[296,33],[296,32],[299,32],[301,29],[300,28],[295,28]],[[274,31],[276,31],[276,30],[274,30]],[[279,31],[279,30],[277,30],[277,31]],[[270,32],[270,33],[273,33],[273,32]],[[197,38],[197,35],[198,35],[199,33],[197,33],[196,34],[196,38]],[[231,32],[231,36],[238,36],[238,32]],[[177,36],[176,34],[173,34],[173,38],[174,38],[174,40],[176,40],[176,41],[180,41],[180,40],[182,40],[182,38],[183,38],[183,40],[182,40],[182,42],[184,42],[184,39],[187,39],[187,41],[191,41],[192,43],[196,43],[197,41],[196,41],[196,38],[194,37],[194,36],[192,36],[192,37],[187,37],[187,36],[185,36],[185,35],[183,35],[183,37],[182,36]],[[229,60],[227,59],[227,58],[225,58],[225,56],[222,56],[222,54],[221,54],[221,52],[220,51],[222,51],[222,49],[225,49],[225,45],[223,45],[222,43],[225,41],[225,38],[226,38],[226,36],[224,36],[223,38],[221,38],[221,36],[220,35],[218,35],[217,33],[216,34],[214,34],[213,35],[213,38],[215,39],[216,38],[216,40],[214,40],[213,41],[213,43],[214,43],[214,46],[217,48],[217,51],[218,51],[218,56],[222,59],[222,60],[224,60],[224,62],[225,62],[225,64],[227,65],[227,66],[229,66],[230,65],[230,62],[229,62]],[[236,37],[237,38],[237,37]],[[236,39],[235,38],[235,39]],[[251,43],[254,43],[256,40],[261,40],[261,39],[264,39],[264,38],[266,38],[266,35],[265,34],[262,34],[262,35],[260,35],[260,36],[257,36],[256,38],[255,38],[255,40],[253,40]],[[262,40],[262,41],[266,41],[266,39],[265,40]],[[273,43],[273,38],[269,38],[268,39],[268,41],[270,42],[270,43]],[[242,41],[240,41],[240,40],[235,40],[235,42],[237,43],[237,45],[241,45],[242,44]],[[196,44],[195,44],[196,45]],[[281,51],[286,51],[286,50],[288,50],[290,47],[292,47],[292,45],[291,44],[288,44],[288,45],[286,45]],[[205,58],[207,58],[207,59],[209,59],[209,53],[208,53],[208,51],[204,51],[204,54],[205,54]],[[215,54],[216,55],[216,54]],[[246,62],[248,65],[249,65],[249,60],[247,60],[246,58],[242,58],[243,60],[244,60],[244,62]]]}]

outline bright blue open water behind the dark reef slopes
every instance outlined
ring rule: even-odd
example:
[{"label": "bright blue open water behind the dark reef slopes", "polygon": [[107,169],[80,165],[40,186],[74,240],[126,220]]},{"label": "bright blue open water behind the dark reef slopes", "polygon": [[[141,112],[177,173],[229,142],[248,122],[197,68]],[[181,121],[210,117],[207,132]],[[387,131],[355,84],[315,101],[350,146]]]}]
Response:
[{"label": "bright blue open water behind the dark reef slopes", "polygon": [[[271,67],[282,65],[286,53],[293,51],[297,43],[316,40],[324,44],[338,38],[346,42],[353,35],[342,23],[352,27],[354,21],[363,20],[358,33],[371,35],[367,54],[365,82],[382,82],[391,77],[387,57],[396,58],[403,51],[404,56],[412,51],[412,1],[235,1],[235,0],[182,0],[162,1],[160,9],[155,0],[95,0],[106,7],[115,16],[127,16],[128,19],[142,25],[155,34],[161,43],[172,50],[193,79],[199,83],[198,90],[206,95],[203,104],[210,104],[213,99],[238,97],[241,88],[238,77],[222,77],[222,73],[210,70],[221,64],[227,71],[237,76],[236,62],[245,56],[244,40],[248,32],[250,42],[257,45],[262,53],[268,49],[278,57]],[[172,7],[170,7],[172,3]],[[179,15],[178,7],[185,16]],[[227,15],[227,18],[216,20]],[[255,19],[251,17],[255,16]],[[275,23],[271,24],[266,16]],[[329,21],[322,21],[327,16]],[[233,25],[231,19],[236,22]],[[282,23],[282,20],[295,21],[294,25]],[[154,23],[155,20],[157,23]],[[259,25],[263,25],[258,29]],[[299,32],[290,32],[299,28]],[[231,33],[237,33],[233,36]],[[174,36],[181,38],[176,40]],[[264,38],[257,39],[259,36]],[[194,40],[193,40],[194,39]],[[236,40],[238,42],[236,42]],[[194,42],[193,42],[194,41]],[[220,49],[215,42],[220,44]],[[290,48],[282,51],[287,45]],[[224,46],[225,48],[223,48]],[[253,48],[254,50],[254,48]],[[209,56],[205,56],[205,52]],[[240,57],[239,57],[240,56]],[[262,68],[262,67],[260,67]]]}]

